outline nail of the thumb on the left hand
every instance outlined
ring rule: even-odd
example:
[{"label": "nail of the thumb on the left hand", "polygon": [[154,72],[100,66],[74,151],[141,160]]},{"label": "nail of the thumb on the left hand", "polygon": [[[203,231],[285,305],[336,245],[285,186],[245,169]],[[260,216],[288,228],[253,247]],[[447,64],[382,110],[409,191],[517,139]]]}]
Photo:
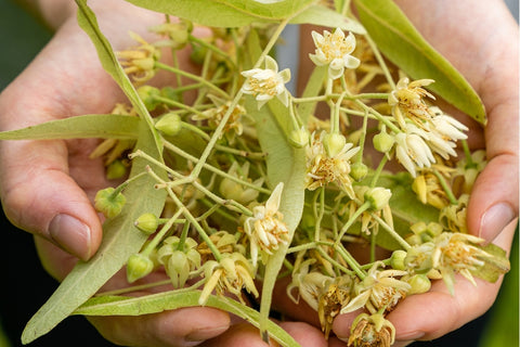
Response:
[{"label": "nail of the thumb on the left hand", "polygon": [[88,260],[91,253],[90,228],[78,219],[60,214],[49,224],[52,240],[72,255]]}]

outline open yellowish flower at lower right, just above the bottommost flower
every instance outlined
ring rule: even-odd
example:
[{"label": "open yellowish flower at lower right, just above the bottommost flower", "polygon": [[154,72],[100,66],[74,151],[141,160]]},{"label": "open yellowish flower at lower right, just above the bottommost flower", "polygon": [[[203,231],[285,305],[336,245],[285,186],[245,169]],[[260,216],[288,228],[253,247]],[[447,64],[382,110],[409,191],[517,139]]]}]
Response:
[{"label": "open yellowish flower at lower right, just above the bottommost flower", "polygon": [[376,261],[368,270],[366,277],[354,285],[356,296],[341,309],[341,313],[353,312],[356,309],[366,307],[375,313],[381,309],[390,311],[399,300],[406,296],[411,285],[395,278],[406,275],[401,270],[379,270],[385,266],[382,261]]}]

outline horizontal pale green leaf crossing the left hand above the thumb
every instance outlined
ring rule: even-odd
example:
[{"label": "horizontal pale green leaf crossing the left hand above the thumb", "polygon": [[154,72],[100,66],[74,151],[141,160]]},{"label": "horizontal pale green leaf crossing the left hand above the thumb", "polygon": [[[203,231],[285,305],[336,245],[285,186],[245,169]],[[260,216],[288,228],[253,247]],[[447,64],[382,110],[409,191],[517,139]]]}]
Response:
[{"label": "horizontal pale green leaf crossing the left hand above the thumb", "polygon": [[121,115],[84,115],[0,132],[0,140],[135,139],[141,119]]}]

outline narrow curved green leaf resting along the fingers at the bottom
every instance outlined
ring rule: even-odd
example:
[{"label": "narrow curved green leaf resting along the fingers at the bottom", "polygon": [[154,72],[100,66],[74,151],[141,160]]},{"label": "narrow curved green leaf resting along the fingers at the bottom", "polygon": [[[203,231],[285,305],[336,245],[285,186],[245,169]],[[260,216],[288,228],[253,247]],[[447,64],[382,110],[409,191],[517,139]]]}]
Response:
[{"label": "narrow curved green leaf resting along the fingers at the bottom", "polygon": [[[87,301],[75,311],[75,314],[84,316],[139,316],[174,310],[183,307],[198,306],[199,291],[172,291],[153,294],[143,297],[96,297]],[[230,313],[236,314],[255,326],[259,326],[259,313],[231,298],[211,295],[206,304]],[[292,337],[273,322],[268,323],[271,336],[282,346],[299,346]]]}]

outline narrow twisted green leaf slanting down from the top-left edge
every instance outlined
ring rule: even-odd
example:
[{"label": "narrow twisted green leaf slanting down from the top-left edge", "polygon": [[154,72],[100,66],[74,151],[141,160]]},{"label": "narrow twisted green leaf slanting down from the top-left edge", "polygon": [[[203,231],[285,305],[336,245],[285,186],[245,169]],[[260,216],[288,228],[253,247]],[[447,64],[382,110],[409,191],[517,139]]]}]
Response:
[{"label": "narrow twisted green leaf slanting down from the top-left edge", "polygon": [[116,54],[114,53],[114,50],[112,49],[110,43],[101,33],[95,14],[87,5],[87,0],[76,0],[76,3],[78,4],[78,24],[84,30],[84,33],[89,35],[92,43],[94,43],[103,68],[119,85],[119,87],[125,92],[138,114],[146,121],[154,136],[153,139],[155,141],[156,147],[160,152],[160,140],[155,131],[154,121],[152,120],[152,117],[146,110],[143,101],[139,97],[135,88],[133,88],[130,79],[125,74],[121,65],[116,57]]}]

